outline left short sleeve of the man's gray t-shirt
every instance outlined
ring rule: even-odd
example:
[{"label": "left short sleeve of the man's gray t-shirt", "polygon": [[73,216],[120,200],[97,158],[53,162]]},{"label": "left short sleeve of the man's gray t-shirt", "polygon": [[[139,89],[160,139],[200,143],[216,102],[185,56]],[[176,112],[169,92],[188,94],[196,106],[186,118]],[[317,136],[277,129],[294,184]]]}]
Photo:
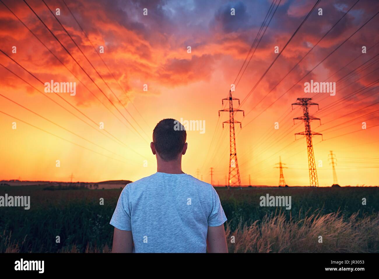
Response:
[{"label": "left short sleeve of the man's gray t-shirt", "polygon": [[117,201],[110,224],[119,230],[132,230],[129,208],[129,188],[125,186]]}]

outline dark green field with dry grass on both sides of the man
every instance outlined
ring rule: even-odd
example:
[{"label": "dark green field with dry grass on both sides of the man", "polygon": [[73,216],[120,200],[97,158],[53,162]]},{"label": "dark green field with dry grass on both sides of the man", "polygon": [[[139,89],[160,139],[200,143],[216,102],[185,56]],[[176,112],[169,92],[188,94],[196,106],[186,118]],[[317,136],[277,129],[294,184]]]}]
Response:
[{"label": "dark green field with dry grass on both sides of the man", "polygon": [[[109,221],[121,189],[44,187],[0,186],[0,195],[31,200],[30,210],[0,207],[0,252],[110,251]],[[379,252],[377,187],[216,190],[228,218],[230,252]],[[266,194],[290,195],[291,210],[261,207],[259,197]]]}]

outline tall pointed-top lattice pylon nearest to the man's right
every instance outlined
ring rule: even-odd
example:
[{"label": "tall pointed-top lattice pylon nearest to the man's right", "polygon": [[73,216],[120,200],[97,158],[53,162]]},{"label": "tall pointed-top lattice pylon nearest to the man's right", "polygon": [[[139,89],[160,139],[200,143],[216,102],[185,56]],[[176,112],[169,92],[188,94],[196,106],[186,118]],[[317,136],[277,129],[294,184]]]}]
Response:
[{"label": "tall pointed-top lattice pylon nearest to the man's right", "polygon": [[234,113],[241,111],[243,112],[243,116],[245,116],[245,112],[240,109],[233,109],[233,100],[238,100],[238,104],[240,104],[240,99],[233,98],[231,90],[229,90],[229,98],[222,99],[222,105],[224,105],[224,100],[229,101],[229,109],[219,110],[218,116],[220,116],[220,112],[223,112],[223,111],[229,112],[229,120],[222,122],[222,129],[224,129],[224,123],[229,123],[230,156],[229,156],[228,186],[241,186],[240,170],[238,169],[236,136],[235,136],[235,131],[234,131],[234,124],[240,123],[241,128],[242,126],[241,126],[240,121],[234,120]]}]

